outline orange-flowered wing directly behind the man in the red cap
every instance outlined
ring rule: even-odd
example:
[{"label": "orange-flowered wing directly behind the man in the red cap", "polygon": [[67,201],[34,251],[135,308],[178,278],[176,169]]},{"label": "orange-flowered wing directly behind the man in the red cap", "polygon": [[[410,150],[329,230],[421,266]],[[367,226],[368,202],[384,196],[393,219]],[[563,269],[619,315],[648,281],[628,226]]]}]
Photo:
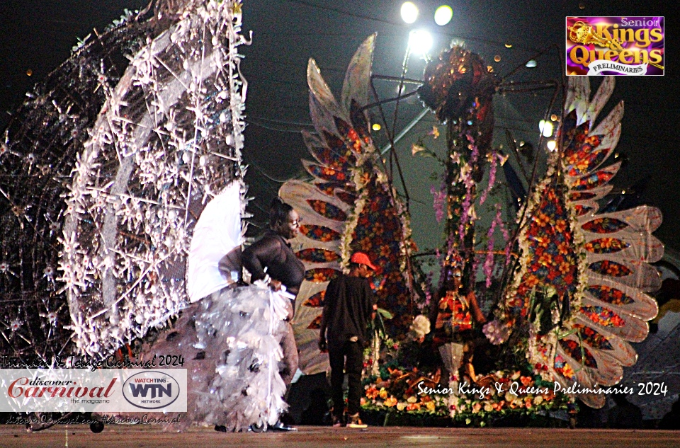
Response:
[{"label": "orange-flowered wing directly behind the man in the red cap", "polygon": [[[369,99],[374,45],[372,35],[354,54],[341,103],[310,59],[307,83],[315,132],[304,132],[303,139],[313,159],[302,165],[311,180],[290,180],[279,191],[302,217],[300,236],[293,244],[307,272],[297,296],[293,328],[300,369],[307,374],[327,367],[327,358],[317,348],[322,294],[331,277],[348,267],[351,253],[367,253],[387,277],[377,291],[381,307],[400,315],[409,301],[402,269],[409,226],[382,169],[363,110]],[[403,320],[410,323],[408,317]]]}]

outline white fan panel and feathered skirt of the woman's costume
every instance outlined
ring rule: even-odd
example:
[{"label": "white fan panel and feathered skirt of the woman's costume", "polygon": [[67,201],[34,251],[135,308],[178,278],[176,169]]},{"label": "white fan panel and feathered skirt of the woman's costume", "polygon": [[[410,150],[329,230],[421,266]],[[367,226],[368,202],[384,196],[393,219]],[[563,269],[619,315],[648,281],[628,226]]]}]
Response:
[{"label": "white fan panel and feathered skirt of the woman's costume", "polygon": [[239,200],[239,185],[233,183],[205,207],[188,260],[191,304],[174,328],[144,350],[145,356],[173,353],[186,360],[185,428],[192,423],[234,431],[264,428],[286,408],[278,363],[290,294],[273,292],[263,281],[237,287],[238,271],[220,272],[225,253],[239,251],[241,223],[234,213]]}]

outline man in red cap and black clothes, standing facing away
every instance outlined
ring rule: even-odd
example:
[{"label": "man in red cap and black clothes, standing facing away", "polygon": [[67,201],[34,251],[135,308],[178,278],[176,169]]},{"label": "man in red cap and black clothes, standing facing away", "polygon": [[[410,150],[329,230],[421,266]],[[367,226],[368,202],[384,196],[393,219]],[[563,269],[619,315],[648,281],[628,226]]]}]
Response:
[{"label": "man in red cap and black clothes, standing facing away", "polygon": [[319,350],[328,350],[331,364],[333,425],[345,423],[342,394],[345,371],[348,384],[346,423],[350,427],[365,427],[359,418],[361,369],[366,327],[378,309],[368,277],[377,268],[363,252],[354,253],[350,262],[349,274],[335,277],[326,288]]}]

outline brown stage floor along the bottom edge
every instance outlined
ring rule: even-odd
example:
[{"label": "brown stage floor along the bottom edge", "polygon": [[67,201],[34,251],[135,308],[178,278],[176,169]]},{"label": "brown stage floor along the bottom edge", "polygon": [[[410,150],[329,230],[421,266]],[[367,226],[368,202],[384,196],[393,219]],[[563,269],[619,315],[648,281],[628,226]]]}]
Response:
[{"label": "brown stage floor along the bottom edge", "polygon": [[110,425],[94,434],[87,425],[57,425],[28,433],[21,425],[0,425],[3,448],[216,448],[216,447],[680,447],[680,431],[555,430],[536,428],[369,427],[365,430],[299,427],[297,432],[223,433],[193,428],[184,433],[162,432],[154,425]]}]

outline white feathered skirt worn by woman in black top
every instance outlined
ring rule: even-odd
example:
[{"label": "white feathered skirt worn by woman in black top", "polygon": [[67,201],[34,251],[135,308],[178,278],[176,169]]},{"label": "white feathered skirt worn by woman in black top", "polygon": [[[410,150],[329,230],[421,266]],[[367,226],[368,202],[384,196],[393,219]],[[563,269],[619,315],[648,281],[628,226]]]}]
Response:
[{"label": "white feathered skirt worn by woman in black top", "polygon": [[183,310],[144,355],[185,360],[187,413],[164,415],[180,420],[167,429],[198,423],[239,431],[276,423],[287,408],[278,364],[288,306],[281,294],[251,285],[222,289]]}]

